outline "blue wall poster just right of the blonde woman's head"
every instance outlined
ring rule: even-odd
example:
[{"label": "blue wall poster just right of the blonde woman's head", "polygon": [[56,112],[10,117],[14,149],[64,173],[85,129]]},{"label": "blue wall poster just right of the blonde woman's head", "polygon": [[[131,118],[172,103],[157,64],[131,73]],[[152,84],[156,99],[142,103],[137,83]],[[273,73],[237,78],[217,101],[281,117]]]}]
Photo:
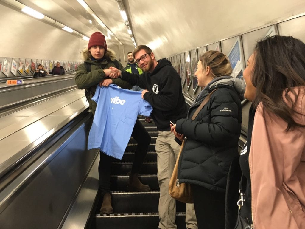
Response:
[{"label": "blue wall poster just right of the blonde woman's head", "polygon": [[236,41],[228,54],[228,58],[233,69],[232,76],[243,80],[242,71],[245,69],[245,63],[241,36],[236,38]]}]

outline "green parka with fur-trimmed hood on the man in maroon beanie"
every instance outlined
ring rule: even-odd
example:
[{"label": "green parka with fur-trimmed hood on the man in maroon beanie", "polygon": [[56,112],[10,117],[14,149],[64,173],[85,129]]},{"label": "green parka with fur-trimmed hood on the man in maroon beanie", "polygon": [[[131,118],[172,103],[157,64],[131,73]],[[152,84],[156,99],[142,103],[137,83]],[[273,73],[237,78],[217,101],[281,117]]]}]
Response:
[{"label": "green parka with fur-trimmed hood on the man in maroon beanie", "polygon": [[[89,50],[86,48],[81,52],[82,58],[84,62],[91,64],[91,72],[88,72],[84,64],[80,64],[77,67],[76,73],[75,73],[75,82],[78,89],[85,89],[85,95],[88,98],[89,102],[89,109],[94,114],[96,109],[96,103],[91,100],[91,98],[95,94],[96,86],[104,80],[105,78],[108,78],[105,76],[104,69],[108,69],[109,67],[116,67],[114,64],[115,60],[115,53],[111,49],[107,49],[104,57],[102,60],[91,60],[89,56]],[[125,71],[124,67],[119,63],[119,69],[121,71]],[[124,88],[124,89],[131,89],[132,85],[130,85],[128,82],[117,78],[113,79],[113,83]]]}]

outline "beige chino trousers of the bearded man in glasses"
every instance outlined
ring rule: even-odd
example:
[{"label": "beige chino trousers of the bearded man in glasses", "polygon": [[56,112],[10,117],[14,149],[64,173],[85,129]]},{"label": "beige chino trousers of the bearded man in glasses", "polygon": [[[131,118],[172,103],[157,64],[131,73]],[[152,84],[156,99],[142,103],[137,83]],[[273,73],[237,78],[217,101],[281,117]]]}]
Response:
[{"label": "beige chino trousers of the bearded man in glasses", "polygon": [[[174,140],[175,136],[170,131],[159,131],[156,140],[158,157],[158,182],[160,187],[159,199],[159,227],[161,229],[176,229],[176,200],[170,197],[168,185],[173,173],[176,158],[181,146]],[[194,204],[186,204],[186,228],[197,229],[197,220]]]}]

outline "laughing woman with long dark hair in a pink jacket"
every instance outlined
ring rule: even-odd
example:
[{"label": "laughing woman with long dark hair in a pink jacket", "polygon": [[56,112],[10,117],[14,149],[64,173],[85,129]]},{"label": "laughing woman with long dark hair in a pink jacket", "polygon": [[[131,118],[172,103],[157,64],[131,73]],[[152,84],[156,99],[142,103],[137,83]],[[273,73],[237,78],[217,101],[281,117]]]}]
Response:
[{"label": "laughing woman with long dark hair in a pink jacket", "polygon": [[240,156],[249,201],[241,215],[255,229],[304,229],[305,44],[286,36],[263,39],[243,76],[253,129]]}]

